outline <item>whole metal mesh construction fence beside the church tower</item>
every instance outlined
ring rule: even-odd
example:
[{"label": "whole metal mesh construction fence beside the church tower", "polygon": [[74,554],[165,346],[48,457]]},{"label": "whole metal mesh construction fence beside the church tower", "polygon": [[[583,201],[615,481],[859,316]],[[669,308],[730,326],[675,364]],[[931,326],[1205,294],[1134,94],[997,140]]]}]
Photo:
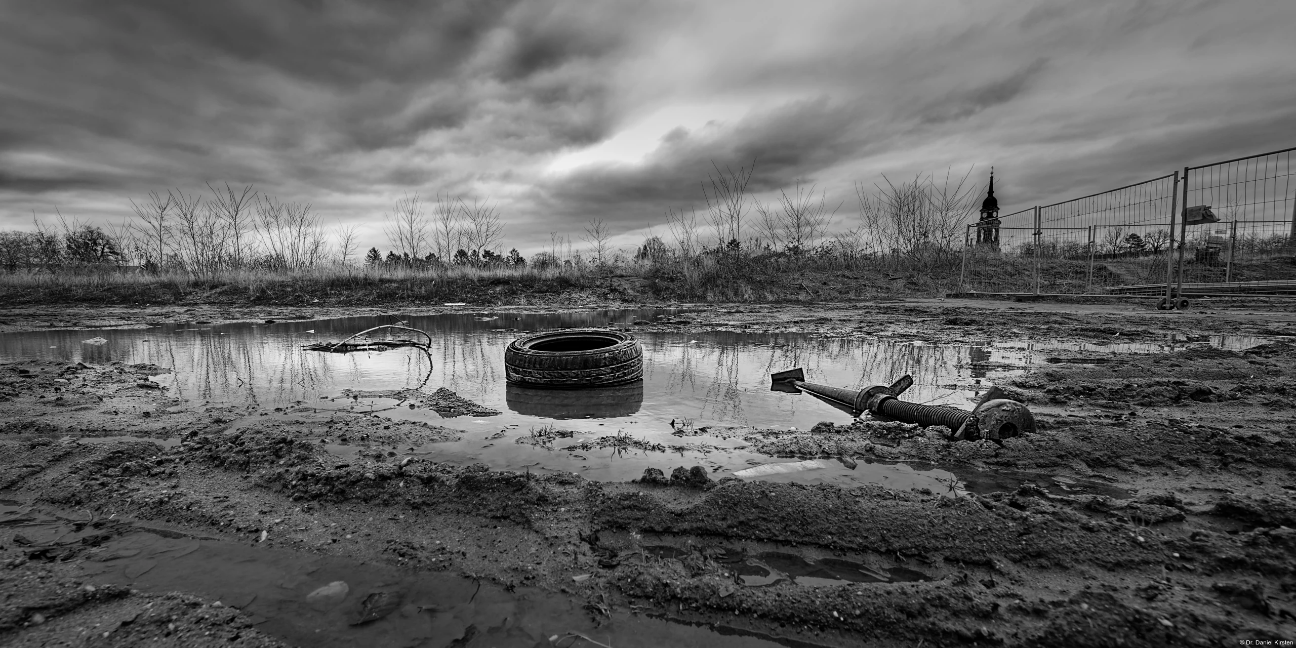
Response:
[{"label": "whole metal mesh construction fence beside the church tower", "polygon": [[1296,294],[1296,148],[1185,167],[968,226],[959,290]]}]

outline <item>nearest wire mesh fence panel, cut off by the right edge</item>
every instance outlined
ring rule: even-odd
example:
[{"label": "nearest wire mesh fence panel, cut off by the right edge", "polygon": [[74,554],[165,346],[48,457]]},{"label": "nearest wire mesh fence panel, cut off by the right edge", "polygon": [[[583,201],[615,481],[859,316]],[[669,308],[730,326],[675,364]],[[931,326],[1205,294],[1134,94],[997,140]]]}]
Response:
[{"label": "nearest wire mesh fence panel, cut off by the right edge", "polygon": [[[1296,293],[1296,148],[1185,170],[1185,294]],[[1217,219],[1194,224],[1201,207]],[[1175,238],[1179,232],[1175,232]]]}]

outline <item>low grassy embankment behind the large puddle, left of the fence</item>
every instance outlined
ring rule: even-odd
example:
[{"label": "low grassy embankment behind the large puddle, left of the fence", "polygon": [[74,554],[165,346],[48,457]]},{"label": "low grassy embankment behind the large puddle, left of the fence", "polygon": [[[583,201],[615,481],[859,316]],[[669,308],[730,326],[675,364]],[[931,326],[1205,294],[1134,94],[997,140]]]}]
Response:
[{"label": "low grassy embankment behind the large puddle, left of the fence", "polygon": [[452,266],[316,267],[211,276],[136,271],[0,275],[0,301],[36,303],[555,305],[613,302],[797,302],[938,295],[958,280],[958,257],[928,264],[699,258],[595,268]]}]

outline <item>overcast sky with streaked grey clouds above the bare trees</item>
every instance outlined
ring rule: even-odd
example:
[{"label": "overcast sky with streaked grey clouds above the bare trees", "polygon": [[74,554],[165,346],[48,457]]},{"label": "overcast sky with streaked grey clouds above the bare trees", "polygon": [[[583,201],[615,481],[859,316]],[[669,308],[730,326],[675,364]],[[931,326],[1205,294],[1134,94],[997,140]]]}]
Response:
[{"label": "overcast sky with streaked grey clouds above the bare trees", "polygon": [[228,181],[365,246],[490,197],[537,251],[665,233],[713,163],[849,219],[883,172],[993,165],[1008,211],[1293,145],[1292,0],[0,0],[0,228]]}]

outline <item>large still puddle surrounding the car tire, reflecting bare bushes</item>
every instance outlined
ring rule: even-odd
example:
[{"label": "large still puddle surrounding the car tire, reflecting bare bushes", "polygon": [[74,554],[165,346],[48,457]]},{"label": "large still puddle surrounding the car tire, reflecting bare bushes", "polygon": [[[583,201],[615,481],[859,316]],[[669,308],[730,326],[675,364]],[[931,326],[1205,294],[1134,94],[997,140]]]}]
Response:
[{"label": "large still puddle surrounding the car tire, reflecting bare bushes", "polygon": [[[806,394],[771,391],[769,375],[802,367],[809,380],[863,389],[911,375],[906,399],[969,408],[989,389],[1021,375],[1043,353],[1107,350],[1164,353],[1186,347],[1165,343],[1074,345],[1010,341],[982,345],[936,345],[920,340],[823,338],[804,333],[649,333],[636,337],[644,350],[644,380],[604,390],[555,391],[508,385],[504,347],[530,330],[607,327],[669,315],[671,310],[618,310],[578,314],[443,314],[365,316],[332,320],[235,323],[196,327],[165,324],[149,329],[40,330],[0,336],[0,362],[48,358],[66,362],[153,363],[174,368],[158,376],[170,395],[188,407],[216,406],[257,416],[328,416],[330,410],[375,412],[465,430],[459,441],[391,447],[393,452],[438,461],[485,463],[511,470],[573,470],[591,480],[625,481],[645,468],[667,474],[675,465],[702,465],[713,478],[766,463],[807,457],[769,457],[741,438],[701,434],[677,437],[680,425],[809,429],[819,421],[845,424],[850,415]],[[337,342],[359,330],[403,320],[426,330],[433,343],[330,354],[306,345]],[[627,324],[627,328],[632,329]],[[93,334],[93,337],[91,337]],[[1225,349],[1262,343],[1262,338],[1210,340]],[[499,416],[442,420],[428,408],[399,399],[345,398],[346,390],[376,391],[447,388]],[[566,438],[534,443],[546,429],[569,430]],[[325,439],[341,460],[359,456],[358,446]],[[802,463],[796,470],[762,476],[801,483],[883,483],[956,492],[960,477],[936,467],[836,461]]]}]

